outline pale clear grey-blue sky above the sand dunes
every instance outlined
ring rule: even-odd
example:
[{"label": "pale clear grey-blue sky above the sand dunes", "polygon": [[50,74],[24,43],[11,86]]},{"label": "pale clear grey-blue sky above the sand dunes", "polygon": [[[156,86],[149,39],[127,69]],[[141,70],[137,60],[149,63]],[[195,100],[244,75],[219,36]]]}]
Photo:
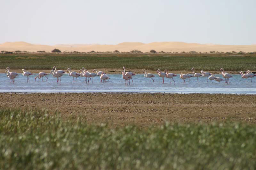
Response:
[{"label": "pale clear grey-blue sky above the sand dunes", "polygon": [[0,0],[0,43],[256,44],[255,0]]}]

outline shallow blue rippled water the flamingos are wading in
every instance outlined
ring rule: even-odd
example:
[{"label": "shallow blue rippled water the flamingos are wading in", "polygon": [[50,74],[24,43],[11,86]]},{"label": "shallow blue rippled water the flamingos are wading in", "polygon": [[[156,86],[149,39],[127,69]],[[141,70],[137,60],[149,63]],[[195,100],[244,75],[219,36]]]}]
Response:
[{"label": "shallow blue rippled water the flamingos are wading in", "polygon": [[[246,85],[246,79],[240,77],[239,74],[234,74],[233,78],[230,78],[230,85],[227,85],[225,81],[219,82],[208,80],[206,83],[206,77],[200,77],[199,83],[197,78],[190,78],[190,81],[186,79],[186,84],[182,84],[180,75],[174,77],[175,85],[170,85],[170,78],[164,78],[164,84],[162,84],[162,78],[154,77],[154,83],[149,84],[149,78],[145,78],[143,74],[137,74],[134,76],[134,85],[125,85],[125,80],[122,78],[122,74],[108,74],[110,77],[106,83],[100,82],[100,77],[95,77],[90,82],[90,85],[86,85],[84,77],[75,78],[73,84],[73,77],[69,77],[68,74],[64,74],[61,77],[61,85],[58,85],[56,78],[48,75],[47,82],[42,82],[41,79],[34,80],[36,74],[30,76],[30,83],[27,83],[27,78],[19,74],[18,78],[15,78],[15,84],[10,83],[10,78],[6,77],[4,73],[0,73],[0,92],[166,92],[166,93],[231,93],[231,94],[256,94],[256,79],[248,79]],[[216,77],[221,77],[221,74],[215,74]],[[131,81],[132,83],[132,81]]]}]

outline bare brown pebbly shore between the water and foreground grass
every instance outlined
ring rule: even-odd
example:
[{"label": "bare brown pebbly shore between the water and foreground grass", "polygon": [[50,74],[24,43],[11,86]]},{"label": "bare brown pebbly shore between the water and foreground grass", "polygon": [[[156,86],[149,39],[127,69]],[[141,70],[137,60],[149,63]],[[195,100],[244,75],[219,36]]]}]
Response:
[{"label": "bare brown pebbly shore between the water and foreground grass", "polygon": [[0,93],[0,99],[1,108],[46,108],[63,117],[83,116],[88,123],[113,126],[149,126],[165,121],[256,123],[256,95]]}]

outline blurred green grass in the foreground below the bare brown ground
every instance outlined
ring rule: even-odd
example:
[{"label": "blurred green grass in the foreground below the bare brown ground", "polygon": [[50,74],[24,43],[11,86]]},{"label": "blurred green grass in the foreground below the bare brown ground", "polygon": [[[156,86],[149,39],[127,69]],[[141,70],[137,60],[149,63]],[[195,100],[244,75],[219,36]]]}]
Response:
[{"label": "blurred green grass in the foreground below the bare brown ground", "polygon": [[88,125],[0,109],[0,169],[255,169],[256,125]]}]

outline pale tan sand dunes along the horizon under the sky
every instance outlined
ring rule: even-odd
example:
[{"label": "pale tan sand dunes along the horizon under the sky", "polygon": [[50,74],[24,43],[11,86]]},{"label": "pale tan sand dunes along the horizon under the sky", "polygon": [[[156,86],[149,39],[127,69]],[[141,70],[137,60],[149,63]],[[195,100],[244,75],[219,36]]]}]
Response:
[{"label": "pale tan sand dunes along the horizon under the sky", "polygon": [[27,42],[5,42],[0,44],[0,51],[46,51],[50,52],[54,48],[58,48],[61,51],[79,51],[79,52],[89,52],[89,51],[131,51],[134,49],[140,50],[142,52],[149,52],[154,49],[158,52],[230,52],[230,51],[244,51],[244,52],[254,52],[256,51],[256,44],[254,45],[219,45],[219,44],[197,44],[197,43],[185,43],[185,42],[152,42],[144,44],[141,42],[123,42],[117,45],[101,45],[101,44],[57,44],[54,46],[40,45],[40,44],[30,44]]}]

